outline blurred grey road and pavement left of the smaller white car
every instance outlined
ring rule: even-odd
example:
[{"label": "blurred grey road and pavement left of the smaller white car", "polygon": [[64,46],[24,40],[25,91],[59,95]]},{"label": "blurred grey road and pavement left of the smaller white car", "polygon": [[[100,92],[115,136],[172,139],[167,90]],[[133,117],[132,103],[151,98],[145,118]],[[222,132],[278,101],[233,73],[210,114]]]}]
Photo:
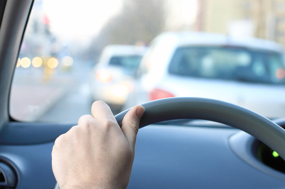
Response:
[{"label": "blurred grey road and pavement left of the smaller white car", "polygon": [[9,104],[12,118],[76,124],[80,116],[91,114],[91,68],[59,69],[45,79],[43,69],[16,68]]}]

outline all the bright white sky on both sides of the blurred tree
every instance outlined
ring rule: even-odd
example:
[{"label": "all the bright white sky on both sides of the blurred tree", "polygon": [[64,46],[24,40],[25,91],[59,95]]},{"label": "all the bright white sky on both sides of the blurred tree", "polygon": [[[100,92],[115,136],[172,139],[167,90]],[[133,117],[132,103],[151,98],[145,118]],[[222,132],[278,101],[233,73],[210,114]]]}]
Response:
[{"label": "all the bright white sky on both sides of the blurred tree", "polygon": [[[155,1],[155,0],[154,0]],[[167,3],[166,30],[194,23],[196,0],[164,0]],[[50,30],[63,40],[87,43],[104,24],[122,9],[122,0],[42,0],[50,19]]]}]

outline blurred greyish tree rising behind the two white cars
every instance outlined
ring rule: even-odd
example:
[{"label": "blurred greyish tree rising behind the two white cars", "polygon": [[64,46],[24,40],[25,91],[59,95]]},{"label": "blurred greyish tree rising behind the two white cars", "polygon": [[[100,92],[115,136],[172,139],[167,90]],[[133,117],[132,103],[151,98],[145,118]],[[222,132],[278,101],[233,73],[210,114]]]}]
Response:
[{"label": "blurred greyish tree rising behind the two white cars", "polygon": [[93,58],[109,44],[149,43],[161,33],[165,23],[164,0],[123,0],[121,12],[111,18],[93,39],[89,54]]}]

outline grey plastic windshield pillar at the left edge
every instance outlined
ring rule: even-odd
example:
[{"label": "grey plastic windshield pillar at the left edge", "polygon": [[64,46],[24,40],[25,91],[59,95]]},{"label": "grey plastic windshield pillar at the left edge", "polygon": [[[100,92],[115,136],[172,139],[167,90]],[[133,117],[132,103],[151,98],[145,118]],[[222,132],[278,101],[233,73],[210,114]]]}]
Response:
[{"label": "grey plastic windshield pillar at the left edge", "polygon": [[9,121],[11,81],[32,3],[25,0],[5,4],[0,29],[0,129]]}]

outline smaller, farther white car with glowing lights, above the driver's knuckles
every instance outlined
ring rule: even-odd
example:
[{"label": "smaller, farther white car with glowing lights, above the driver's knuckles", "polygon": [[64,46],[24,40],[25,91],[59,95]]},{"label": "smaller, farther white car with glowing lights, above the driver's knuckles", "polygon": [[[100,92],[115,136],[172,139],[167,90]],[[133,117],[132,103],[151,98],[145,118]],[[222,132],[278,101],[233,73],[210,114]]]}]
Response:
[{"label": "smaller, farther white car with glowing lights, above the driver's knuckles", "polygon": [[146,47],[108,45],[91,72],[92,100],[103,100],[113,110],[121,110],[129,93]]}]

